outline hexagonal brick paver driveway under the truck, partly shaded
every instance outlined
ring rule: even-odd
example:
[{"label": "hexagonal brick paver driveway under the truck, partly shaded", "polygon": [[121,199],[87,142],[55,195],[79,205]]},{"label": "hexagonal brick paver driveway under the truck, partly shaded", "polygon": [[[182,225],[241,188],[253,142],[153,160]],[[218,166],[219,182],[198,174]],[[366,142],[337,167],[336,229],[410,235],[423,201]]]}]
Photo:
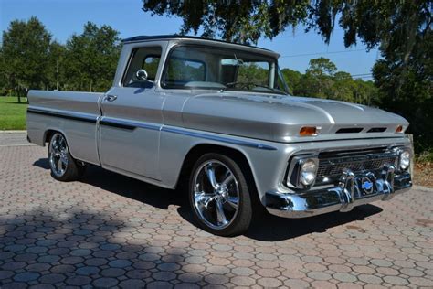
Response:
[{"label": "hexagonal brick paver driveway under the truck, partly shaded", "polygon": [[182,193],[97,167],[49,176],[46,148],[0,147],[0,285],[432,287],[433,200],[312,219],[264,216],[245,236],[199,230]]}]

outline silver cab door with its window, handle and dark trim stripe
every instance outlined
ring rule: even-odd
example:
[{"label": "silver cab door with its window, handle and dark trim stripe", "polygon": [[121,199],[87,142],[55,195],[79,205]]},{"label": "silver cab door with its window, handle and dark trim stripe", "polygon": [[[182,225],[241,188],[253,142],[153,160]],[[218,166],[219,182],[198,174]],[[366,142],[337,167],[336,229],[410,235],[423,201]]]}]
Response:
[{"label": "silver cab door with its window, handle and dark trim stripe", "polygon": [[[164,96],[154,91],[153,80],[162,48],[143,46],[132,50],[121,81],[100,104],[99,152],[102,167],[132,175],[160,179],[159,136],[163,125]],[[146,70],[147,80],[134,75]]]}]

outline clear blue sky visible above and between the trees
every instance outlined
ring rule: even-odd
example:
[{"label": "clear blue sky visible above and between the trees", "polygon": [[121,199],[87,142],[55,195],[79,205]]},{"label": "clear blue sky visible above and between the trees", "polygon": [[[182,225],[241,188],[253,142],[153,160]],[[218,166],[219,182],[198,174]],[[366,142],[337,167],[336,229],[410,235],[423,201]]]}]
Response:
[{"label": "clear blue sky visible above and between the trees", "polygon": [[[37,16],[60,43],[74,33],[80,34],[88,21],[110,25],[122,38],[179,32],[182,19],[151,16],[141,7],[142,0],[0,0],[0,30],[6,30],[12,20]],[[371,69],[379,57],[377,49],[367,52],[362,43],[344,48],[341,27],[336,27],[329,45],[314,31],[305,33],[297,27],[293,32],[290,27],[272,40],[259,39],[258,46],[280,53],[281,68],[305,72],[310,59],[324,57],[331,59],[338,70],[364,80],[371,80]]]}]

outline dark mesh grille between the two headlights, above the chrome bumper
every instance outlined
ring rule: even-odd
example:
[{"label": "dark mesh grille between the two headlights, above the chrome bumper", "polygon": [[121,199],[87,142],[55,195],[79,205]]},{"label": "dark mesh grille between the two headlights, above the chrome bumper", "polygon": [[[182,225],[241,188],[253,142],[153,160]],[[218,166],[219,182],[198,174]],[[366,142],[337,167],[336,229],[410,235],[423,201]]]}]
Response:
[{"label": "dark mesh grille between the two headlights, above the chrome bumper", "polygon": [[369,170],[375,171],[385,164],[394,165],[397,155],[395,153],[375,155],[349,155],[320,159],[317,177],[333,177],[341,175],[343,169],[348,168],[354,173]]}]

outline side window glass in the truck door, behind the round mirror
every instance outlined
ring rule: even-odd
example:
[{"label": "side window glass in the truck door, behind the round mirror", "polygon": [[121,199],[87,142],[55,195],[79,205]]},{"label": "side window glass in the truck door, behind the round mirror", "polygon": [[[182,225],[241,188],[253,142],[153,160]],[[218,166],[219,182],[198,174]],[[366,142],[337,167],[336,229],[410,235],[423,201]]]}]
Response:
[{"label": "side window glass in the truck door, behind the round mirror", "polygon": [[[151,88],[161,59],[160,47],[136,48],[132,50],[132,56],[121,82],[125,87]],[[137,80],[135,74],[138,70],[146,70],[147,80]],[[148,81],[150,80],[150,81]]]}]

